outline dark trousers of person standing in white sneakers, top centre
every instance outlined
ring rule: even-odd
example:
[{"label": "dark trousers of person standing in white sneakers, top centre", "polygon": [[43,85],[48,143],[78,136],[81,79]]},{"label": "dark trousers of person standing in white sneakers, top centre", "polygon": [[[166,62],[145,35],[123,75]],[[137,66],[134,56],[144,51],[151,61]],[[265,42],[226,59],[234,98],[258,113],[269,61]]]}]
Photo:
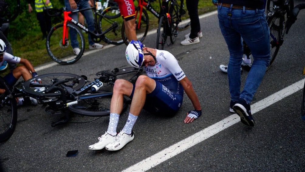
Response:
[{"label": "dark trousers of person standing in white sneakers, top centre", "polygon": [[189,36],[191,39],[196,38],[197,33],[200,31],[198,2],[199,0],[186,0],[186,8],[191,19],[191,34]]}]

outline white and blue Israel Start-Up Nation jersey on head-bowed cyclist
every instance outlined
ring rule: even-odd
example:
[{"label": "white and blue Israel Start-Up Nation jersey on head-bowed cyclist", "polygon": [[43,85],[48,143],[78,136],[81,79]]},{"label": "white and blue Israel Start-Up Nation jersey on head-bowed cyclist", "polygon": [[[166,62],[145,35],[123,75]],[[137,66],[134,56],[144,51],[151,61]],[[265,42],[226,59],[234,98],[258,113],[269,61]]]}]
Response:
[{"label": "white and blue Israel Start-Up Nation jersey on head-bowed cyclist", "polygon": [[168,51],[158,50],[155,66],[145,67],[147,76],[166,86],[172,93],[183,97],[183,87],[180,80],[185,77],[177,59]]}]

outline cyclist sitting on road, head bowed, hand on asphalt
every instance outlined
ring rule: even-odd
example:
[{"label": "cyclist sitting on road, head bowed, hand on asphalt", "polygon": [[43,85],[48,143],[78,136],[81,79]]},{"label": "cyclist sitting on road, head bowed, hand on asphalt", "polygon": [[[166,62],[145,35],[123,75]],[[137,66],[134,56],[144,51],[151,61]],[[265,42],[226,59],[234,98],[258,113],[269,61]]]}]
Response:
[{"label": "cyclist sitting on road, head bowed, hand on asphalt", "polygon": [[[88,147],[89,150],[106,148],[109,151],[116,151],[132,141],[132,127],[142,108],[156,115],[174,116],[181,107],[183,91],[195,108],[187,113],[184,123],[193,122],[201,115],[201,106],[192,83],[171,53],[145,47],[140,41],[131,41],[126,49],[126,58],[135,68],[144,66],[148,76],[139,76],[135,84],[124,79],[115,81],[108,129],[98,138],[99,142]],[[132,99],[131,107],[124,128],[117,134],[124,95]]]}]

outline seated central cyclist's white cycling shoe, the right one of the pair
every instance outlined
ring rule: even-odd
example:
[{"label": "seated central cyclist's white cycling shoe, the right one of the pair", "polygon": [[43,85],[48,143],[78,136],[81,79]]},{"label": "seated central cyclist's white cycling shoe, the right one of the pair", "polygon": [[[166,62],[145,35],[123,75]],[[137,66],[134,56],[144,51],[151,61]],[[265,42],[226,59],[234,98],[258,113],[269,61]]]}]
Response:
[{"label": "seated central cyclist's white cycling shoe, the right one of the pair", "polygon": [[133,131],[131,131],[131,134],[128,135],[121,131],[119,134],[117,134],[117,137],[115,137],[115,140],[106,145],[105,149],[109,151],[117,151],[123,148],[127,143],[132,141],[135,138]]}]

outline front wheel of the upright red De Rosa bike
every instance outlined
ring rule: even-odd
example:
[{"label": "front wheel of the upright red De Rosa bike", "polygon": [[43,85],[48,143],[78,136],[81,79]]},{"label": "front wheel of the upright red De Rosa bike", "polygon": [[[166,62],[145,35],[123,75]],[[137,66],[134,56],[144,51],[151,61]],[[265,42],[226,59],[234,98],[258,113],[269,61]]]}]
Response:
[{"label": "front wheel of the upright red De Rosa bike", "polygon": [[[51,31],[49,32],[46,40],[46,48],[48,51],[49,56],[55,62],[59,64],[72,64],[75,63],[77,60],[81,58],[84,53],[85,49],[85,38],[82,34],[82,31],[78,29],[75,25],[67,23],[66,27],[66,35],[65,43],[63,43],[63,23],[57,24],[52,27]],[[77,45],[74,47],[79,47],[80,52],[76,55],[74,54],[74,50],[72,47],[72,43],[70,40],[70,31],[73,30],[76,32]]]}]

